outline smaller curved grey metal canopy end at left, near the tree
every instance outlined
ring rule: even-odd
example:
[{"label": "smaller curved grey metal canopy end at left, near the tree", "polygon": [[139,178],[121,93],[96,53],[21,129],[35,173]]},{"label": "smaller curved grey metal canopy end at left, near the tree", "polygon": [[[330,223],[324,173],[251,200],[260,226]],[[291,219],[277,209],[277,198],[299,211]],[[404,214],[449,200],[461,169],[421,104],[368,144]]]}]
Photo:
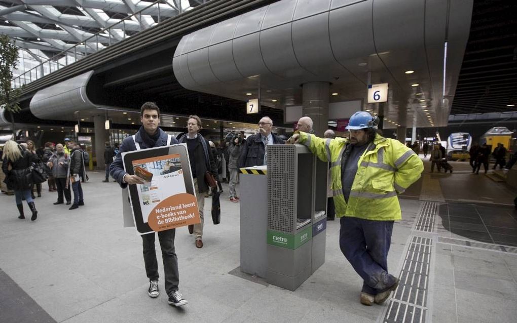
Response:
[{"label": "smaller curved grey metal canopy end at left, near the tree", "polygon": [[86,85],[94,71],[75,76],[67,81],[39,90],[29,108],[40,119],[49,119],[64,113],[95,108],[86,96]]}]

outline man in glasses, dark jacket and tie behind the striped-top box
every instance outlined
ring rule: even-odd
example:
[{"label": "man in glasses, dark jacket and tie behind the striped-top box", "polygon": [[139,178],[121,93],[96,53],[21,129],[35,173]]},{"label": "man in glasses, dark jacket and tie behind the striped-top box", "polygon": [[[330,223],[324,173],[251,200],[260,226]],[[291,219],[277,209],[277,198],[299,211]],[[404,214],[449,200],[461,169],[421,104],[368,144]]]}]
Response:
[{"label": "man in glasses, dark jacket and tie behind the striped-top box", "polygon": [[258,122],[258,133],[249,136],[240,152],[239,167],[252,167],[266,165],[267,145],[285,144],[279,136],[272,134],[273,120],[263,117]]}]

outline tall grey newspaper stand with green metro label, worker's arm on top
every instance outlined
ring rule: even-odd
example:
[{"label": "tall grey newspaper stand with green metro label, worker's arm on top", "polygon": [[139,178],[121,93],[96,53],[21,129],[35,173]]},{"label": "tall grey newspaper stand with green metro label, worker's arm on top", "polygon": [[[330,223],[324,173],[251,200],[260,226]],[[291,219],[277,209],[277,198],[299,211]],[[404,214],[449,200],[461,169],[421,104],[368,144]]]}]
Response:
[{"label": "tall grey newspaper stand with green metro label, worker's arm on top", "polygon": [[267,147],[267,271],[295,290],[325,262],[328,163],[303,145]]}]

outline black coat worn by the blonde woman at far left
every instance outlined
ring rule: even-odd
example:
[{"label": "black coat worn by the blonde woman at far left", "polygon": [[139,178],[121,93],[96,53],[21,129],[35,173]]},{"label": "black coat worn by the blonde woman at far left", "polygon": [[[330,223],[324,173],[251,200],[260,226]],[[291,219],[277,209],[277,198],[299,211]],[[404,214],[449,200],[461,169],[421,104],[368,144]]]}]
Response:
[{"label": "black coat worn by the blonde woman at far left", "polygon": [[[33,185],[32,171],[29,168],[32,163],[38,162],[38,157],[25,149],[21,149],[22,157],[11,162],[4,158],[2,171],[5,174],[4,182],[7,188],[13,191],[30,190]],[[11,170],[9,171],[9,165]]]}]

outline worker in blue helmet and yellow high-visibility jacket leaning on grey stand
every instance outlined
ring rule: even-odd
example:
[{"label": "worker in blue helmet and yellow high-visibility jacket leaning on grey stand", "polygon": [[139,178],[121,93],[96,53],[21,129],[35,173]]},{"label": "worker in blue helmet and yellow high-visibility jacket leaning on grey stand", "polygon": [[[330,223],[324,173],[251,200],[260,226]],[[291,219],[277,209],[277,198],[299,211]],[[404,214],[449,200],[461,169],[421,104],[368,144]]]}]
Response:
[{"label": "worker in blue helmet and yellow high-visibility jacket leaning on grey stand", "polygon": [[330,162],[331,189],[340,219],[339,243],[363,279],[360,302],[382,304],[399,279],[388,273],[393,222],[401,220],[398,195],[420,177],[423,163],[413,150],[377,133],[378,119],[354,113],[349,138],[322,139],[295,132],[290,144],[306,145]]}]

